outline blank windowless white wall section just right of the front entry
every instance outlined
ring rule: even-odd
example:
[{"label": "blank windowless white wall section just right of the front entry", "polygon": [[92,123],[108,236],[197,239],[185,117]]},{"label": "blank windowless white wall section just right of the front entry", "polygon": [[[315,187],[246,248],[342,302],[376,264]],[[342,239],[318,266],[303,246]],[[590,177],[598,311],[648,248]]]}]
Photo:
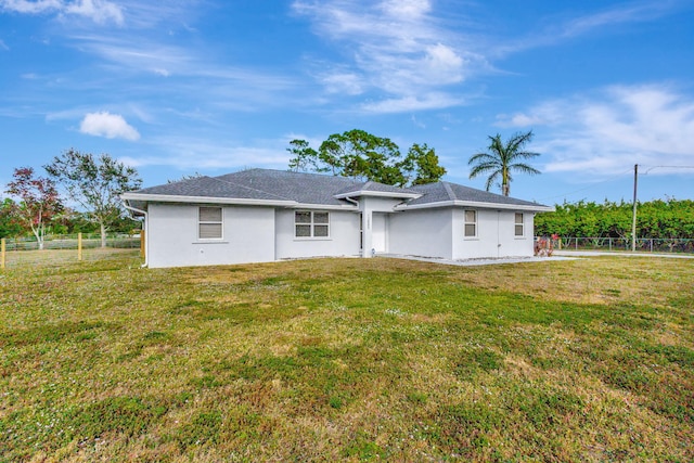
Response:
[{"label": "blank windowless white wall section just right of the front entry", "polygon": [[421,209],[389,216],[389,253],[452,258],[453,209]]}]

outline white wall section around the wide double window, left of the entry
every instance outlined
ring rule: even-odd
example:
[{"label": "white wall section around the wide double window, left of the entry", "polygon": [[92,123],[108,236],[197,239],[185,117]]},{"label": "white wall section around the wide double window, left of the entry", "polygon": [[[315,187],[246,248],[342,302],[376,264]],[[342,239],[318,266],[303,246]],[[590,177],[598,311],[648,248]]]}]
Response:
[{"label": "white wall section around the wide double window, left of the entry", "polygon": [[359,213],[340,210],[327,211],[330,213],[329,237],[297,239],[294,235],[295,209],[277,209],[275,257],[278,259],[292,259],[304,257],[358,256]]}]

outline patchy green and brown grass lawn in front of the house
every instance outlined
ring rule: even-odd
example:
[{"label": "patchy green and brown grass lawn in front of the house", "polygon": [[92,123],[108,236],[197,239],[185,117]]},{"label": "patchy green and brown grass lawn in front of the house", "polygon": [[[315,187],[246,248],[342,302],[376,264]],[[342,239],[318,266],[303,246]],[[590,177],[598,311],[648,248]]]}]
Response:
[{"label": "patchy green and brown grass lawn in front of the house", "polygon": [[0,273],[0,461],[694,460],[694,260],[140,262]]}]

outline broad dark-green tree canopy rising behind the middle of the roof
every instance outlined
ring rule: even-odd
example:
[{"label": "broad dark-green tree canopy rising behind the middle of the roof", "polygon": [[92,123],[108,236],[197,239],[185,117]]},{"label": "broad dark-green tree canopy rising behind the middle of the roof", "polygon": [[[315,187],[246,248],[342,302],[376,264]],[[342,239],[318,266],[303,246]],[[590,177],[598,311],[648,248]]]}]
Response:
[{"label": "broad dark-green tree canopy rising behind the middle of the roof", "polygon": [[426,144],[414,144],[402,158],[390,139],[363,130],[333,133],[318,150],[306,140],[292,140],[290,145],[290,170],[294,171],[329,172],[398,187],[438,181],[446,173]]}]

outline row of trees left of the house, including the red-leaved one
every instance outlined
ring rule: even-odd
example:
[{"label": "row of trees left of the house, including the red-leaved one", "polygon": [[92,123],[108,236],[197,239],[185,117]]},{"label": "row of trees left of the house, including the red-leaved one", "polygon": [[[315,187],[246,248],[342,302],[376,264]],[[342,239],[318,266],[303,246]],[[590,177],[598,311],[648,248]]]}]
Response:
[{"label": "row of trees left of the house, including the red-leaved one", "polygon": [[[106,232],[131,230],[136,222],[126,214],[119,195],[140,188],[137,170],[107,154],[93,156],[68,150],[43,166],[47,176],[33,167],[14,169],[5,192],[14,196],[0,203],[0,237],[33,234],[39,249],[47,234],[94,232],[106,245]],[[61,196],[59,187],[66,192]],[[66,200],[81,207],[76,210]]]}]

